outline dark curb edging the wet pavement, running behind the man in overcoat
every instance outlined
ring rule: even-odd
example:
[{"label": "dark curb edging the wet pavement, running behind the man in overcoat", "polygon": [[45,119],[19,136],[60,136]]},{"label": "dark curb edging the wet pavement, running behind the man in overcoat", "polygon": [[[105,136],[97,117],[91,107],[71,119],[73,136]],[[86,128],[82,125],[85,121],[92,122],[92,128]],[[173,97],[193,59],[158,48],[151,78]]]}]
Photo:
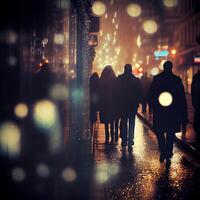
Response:
[{"label": "dark curb edging the wet pavement, running behind the man in overcoat", "polygon": [[[149,120],[147,120],[145,117],[143,117],[140,113],[137,113],[137,117],[144,122],[144,124],[146,126],[148,126],[148,128],[150,128],[150,130],[152,132],[155,133],[155,131],[153,130],[153,126],[152,123],[149,122]],[[200,152],[198,150],[196,150],[192,145],[184,142],[183,140],[181,140],[180,138],[178,138],[177,136],[175,137],[175,143],[178,147],[181,147],[182,149],[184,149],[185,151],[189,152],[190,154],[192,154],[193,156],[197,157],[198,159],[200,159]]]}]

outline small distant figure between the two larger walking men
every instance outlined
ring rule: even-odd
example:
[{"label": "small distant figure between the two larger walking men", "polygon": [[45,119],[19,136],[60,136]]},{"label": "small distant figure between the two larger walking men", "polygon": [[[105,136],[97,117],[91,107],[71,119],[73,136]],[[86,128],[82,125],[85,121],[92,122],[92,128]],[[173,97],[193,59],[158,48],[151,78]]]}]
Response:
[{"label": "small distant figure between the two larger walking men", "polygon": [[[148,103],[148,93],[149,87],[151,85],[151,79],[147,76],[147,72],[145,72],[140,79],[141,87],[142,87],[142,112],[146,113],[147,103]],[[149,106],[149,112],[151,113],[151,108]]]}]

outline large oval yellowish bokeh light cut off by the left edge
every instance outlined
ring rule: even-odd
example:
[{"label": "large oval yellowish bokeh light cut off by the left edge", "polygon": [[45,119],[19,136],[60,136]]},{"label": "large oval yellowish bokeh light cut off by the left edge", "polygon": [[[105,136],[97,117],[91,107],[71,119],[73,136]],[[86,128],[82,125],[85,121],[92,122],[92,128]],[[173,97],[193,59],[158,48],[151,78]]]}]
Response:
[{"label": "large oval yellowish bokeh light cut off by the left edge", "polygon": [[21,132],[13,122],[0,125],[0,151],[11,157],[18,156],[21,150]]}]

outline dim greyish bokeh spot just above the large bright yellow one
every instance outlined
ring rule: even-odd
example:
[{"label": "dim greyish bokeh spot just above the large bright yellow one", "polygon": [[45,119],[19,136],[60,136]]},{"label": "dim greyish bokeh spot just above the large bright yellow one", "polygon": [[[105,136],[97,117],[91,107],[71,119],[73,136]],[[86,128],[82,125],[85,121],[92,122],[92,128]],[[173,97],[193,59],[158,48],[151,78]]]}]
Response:
[{"label": "dim greyish bokeh spot just above the large bright yellow one", "polygon": [[66,100],[69,96],[68,88],[64,84],[57,83],[50,89],[50,96],[55,100]]}]

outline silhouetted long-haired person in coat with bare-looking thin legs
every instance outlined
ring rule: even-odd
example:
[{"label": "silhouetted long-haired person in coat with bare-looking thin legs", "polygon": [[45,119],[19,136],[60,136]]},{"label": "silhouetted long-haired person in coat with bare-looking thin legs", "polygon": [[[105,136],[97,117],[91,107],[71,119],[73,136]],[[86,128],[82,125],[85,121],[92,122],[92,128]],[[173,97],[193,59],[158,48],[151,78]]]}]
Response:
[{"label": "silhouetted long-haired person in coat with bare-looking thin legs", "polygon": [[99,112],[100,122],[105,124],[105,143],[114,143],[114,85],[116,81],[115,73],[110,65],[107,65],[99,79]]}]

